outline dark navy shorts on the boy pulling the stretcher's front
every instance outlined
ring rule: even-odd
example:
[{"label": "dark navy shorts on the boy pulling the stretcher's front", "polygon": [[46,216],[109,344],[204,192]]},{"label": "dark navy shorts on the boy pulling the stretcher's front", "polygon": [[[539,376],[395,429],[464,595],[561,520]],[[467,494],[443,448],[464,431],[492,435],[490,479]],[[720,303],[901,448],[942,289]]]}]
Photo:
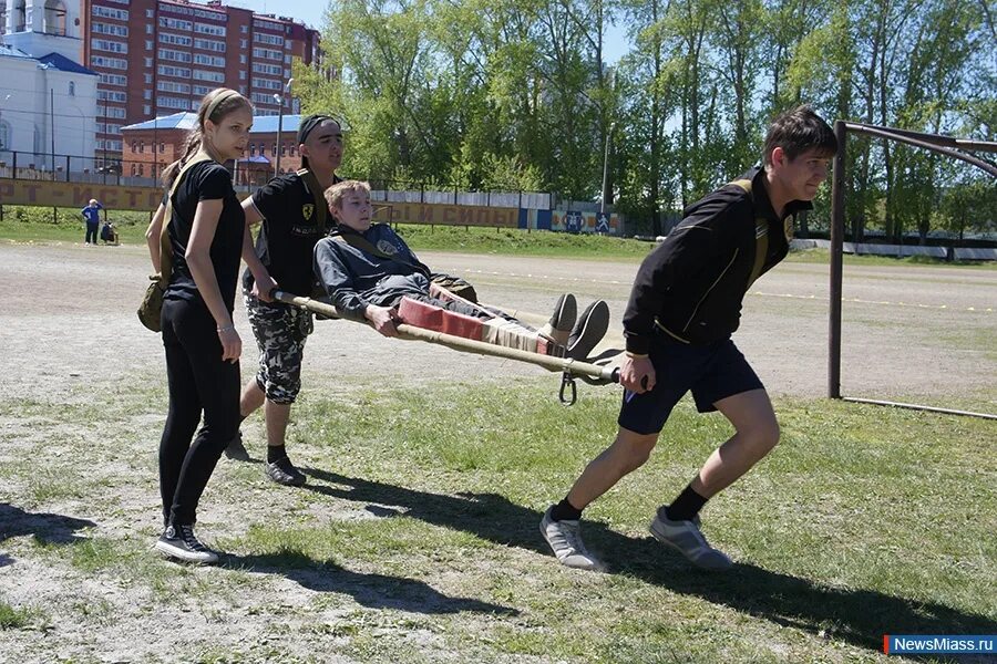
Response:
[{"label": "dark navy shorts on the boy pulling the stretcher's front", "polygon": [[658,333],[651,342],[650,360],[657,378],[654,390],[644,394],[625,390],[617,419],[619,426],[637,434],[660,432],[675,404],[690,390],[696,408],[709,413],[720,400],[764,388],[730,339],[690,345]]}]

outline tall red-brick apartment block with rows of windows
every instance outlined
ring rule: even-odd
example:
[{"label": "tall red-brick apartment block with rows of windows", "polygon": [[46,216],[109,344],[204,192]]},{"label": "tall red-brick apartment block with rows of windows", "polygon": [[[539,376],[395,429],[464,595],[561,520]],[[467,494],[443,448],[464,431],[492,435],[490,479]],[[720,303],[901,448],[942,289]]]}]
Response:
[{"label": "tall red-brick apartment block with rows of windows", "polygon": [[[318,65],[321,60],[318,31],[220,0],[81,2],[83,63],[101,75],[96,155],[106,159],[143,154],[127,151],[126,157],[123,126],[196,111],[215,87],[237,90],[258,115],[277,115],[274,95],[291,77],[291,63]],[[289,100],[285,111],[298,113],[297,100]],[[127,170],[123,164],[122,174]]]}]

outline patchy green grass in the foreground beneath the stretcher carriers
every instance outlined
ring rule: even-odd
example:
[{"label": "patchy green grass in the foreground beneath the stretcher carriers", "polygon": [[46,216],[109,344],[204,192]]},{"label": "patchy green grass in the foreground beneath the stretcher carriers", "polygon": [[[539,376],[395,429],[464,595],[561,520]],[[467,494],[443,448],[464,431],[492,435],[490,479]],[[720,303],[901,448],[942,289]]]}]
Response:
[{"label": "patchy green grass in the foreground beneath the stretcher carriers", "polygon": [[[32,430],[0,464],[21,507],[0,510],[37,525],[0,546],[80,589],[0,596],[0,644],[58,644],[68,620],[113,636],[140,615],[158,630],[177,601],[205,629],[171,656],[199,662],[874,662],[886,633],[997,633],[993,423],[779,400],[780,446],[705,510],[737,561],[707,574],[646,530],[729,434],[682,402],[651,460],[586,513],[600,574],[556,564],[537,525],[610,439],[615,390],[572,408],[549,378],[316,390],[289,443],[309,484],[278,489],[258,461],[223,459],[204,502],[239,518],[203,515],[227,556],[197,569],[148,550],[157,429],[136,423],[165,404],[150,384],[117,386],[100,418],[85,404],[0,406]],[[101,446],[66,436],[66,421],[99,427]],[[97,460],[113,470],[88,474]],[[66,505],[105,526],[49,513]],[[246,624],[249,636],[220,636]]]}]

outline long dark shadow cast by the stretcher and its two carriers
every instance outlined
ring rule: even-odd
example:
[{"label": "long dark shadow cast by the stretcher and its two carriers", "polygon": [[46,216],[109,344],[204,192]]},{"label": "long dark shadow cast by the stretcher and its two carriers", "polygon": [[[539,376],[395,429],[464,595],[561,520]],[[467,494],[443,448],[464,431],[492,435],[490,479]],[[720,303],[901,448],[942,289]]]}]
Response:
[{"label": "long dark shadow cast by the stretcher and its two carriers", "polygon": [[[327,496],[372,502],[373,513],[399,513],[482,539],[551,556],[539,533],[542,513],[515,505],[496,494],[448,496],[301,468],[311,478],[331,485],[306,488]],[[373,509],[371,509],[373,508]],[[376,511],[377,510],[377,511]],[[935,602],[919,602],[873,590],[846,590],[736,563],[724,573],[690,568],[649,535],[633,538],[586,521],[585,539],[610,564],[611,573],[626,574],[674,592],[699,596],[780,625],[881,652],[884,634],[995,634],[997,621]],[[615,564],[614,564],[615,563]],[[580,572],[579,572],[580,573]]]}]

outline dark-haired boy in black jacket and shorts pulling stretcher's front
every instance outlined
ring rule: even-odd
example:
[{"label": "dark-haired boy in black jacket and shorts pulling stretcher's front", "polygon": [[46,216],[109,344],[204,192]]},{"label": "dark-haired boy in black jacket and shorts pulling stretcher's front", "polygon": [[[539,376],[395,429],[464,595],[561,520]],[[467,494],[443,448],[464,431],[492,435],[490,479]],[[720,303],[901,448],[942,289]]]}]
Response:
[{"label": "dark-haired boy in black jacket and shorts pulling stretcher's front", "polygon": [[731,566],[700,532],[699,510],[775,446],[779,424],[730,335],[748,288],[785,258],[795,215],[812,207],[836,149],[833,131],[809,106],[780,115],[765,136],[764,167],[691,205],[640,266],[624,315],[626,391],[616,440],[541,522],[562,564],[603,568],[582,541],[582,510],[647,460],[672,407],[691,391],[700,413],[720,411],[736,433],[658,509],[650,531],[699,568]]}]

